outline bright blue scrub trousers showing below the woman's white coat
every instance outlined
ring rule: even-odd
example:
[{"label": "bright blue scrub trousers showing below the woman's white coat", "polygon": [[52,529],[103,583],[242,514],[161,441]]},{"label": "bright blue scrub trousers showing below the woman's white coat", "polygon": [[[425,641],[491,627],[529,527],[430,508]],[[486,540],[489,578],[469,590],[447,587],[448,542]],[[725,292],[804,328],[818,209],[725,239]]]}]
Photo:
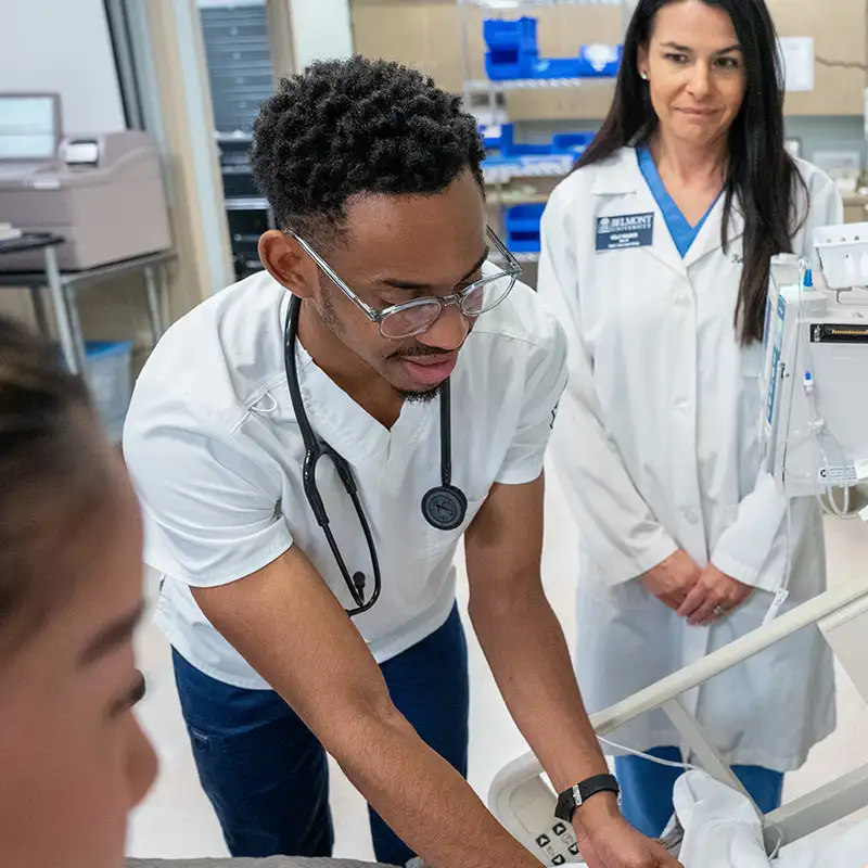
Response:
[{"label": "bright blue scrub trousers showing below the woman's white coat", "polygon": [[[654,748],[646,753],[659,760],[682,762],[677,748]],[[732,766],[732,771],[764,814],[780,807],[783,794],[783,775],[780,771],[760,766]],[[679,768],[661,766],[641,756],[615,757],[621,810],[642,834],[658,838],[666,828],[674,812],[673,789],[681,773]]]}]

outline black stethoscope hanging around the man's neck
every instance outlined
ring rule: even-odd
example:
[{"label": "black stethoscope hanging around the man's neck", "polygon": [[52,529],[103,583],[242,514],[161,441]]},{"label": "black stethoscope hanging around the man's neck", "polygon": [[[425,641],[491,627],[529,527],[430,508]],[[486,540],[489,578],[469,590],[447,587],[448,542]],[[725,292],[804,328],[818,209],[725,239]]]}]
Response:
[{"label": "black stethoscope hanging around the man's neck", "polygon": [[[305,461],[302,470],[302,480],[305,489],[305,497],[310,506],[310,511],[317,520],[317,524],[322,528],[329,548],[332,550],[334,560],[341,570],[347,588],[353,596],[354,609],[347,610],[350,617],[360,615],[362,612],[370,611],[374,603],[380,599],[382,590],[382,578],[380,575],[380,559],[376,557],[376,546],[373,541],[370,524],[365,515],[361,506],[356,480],[347,461],[339,455],[326,441],[314,433],[310,420],[305,412],[305,404],[302,398],[302,387],[298,383],[298,368],[295,361],[295,342],[298,339],[298,314],[302,310],[302,301],[293,296],[290,302],[290,312],[286,317],[286,326],[283,330],[283,361],[286,370],[286,383],[290,387],[292,408],[295,413],[295,421],[302,432],[302,439],[305,444]],[[452,458],[451,458],[451,414],[449,381],[446,380],[441,386],[441,484],[425,493],[422,498],[422,515],[425,521],[438,531],[455,531],[461,526],[468,512],[468,499],[464,493],[451,484],[452,478]],[[361,525],[365,539],[368,542],[368,551],[371,556],[371,566],[373,569],[373,593],[368,602],[365,602],[365,586],[367,578],[365,573],[356,572],[350,575],[346,562],[341,554],[341,549],[329,526],[329,514],[322,502],[319,488],[317,487],[317,464],[320,459],[327,456],[337,472],[341,483],[344,486],[353,506],[356,509],[359,524]]]}]

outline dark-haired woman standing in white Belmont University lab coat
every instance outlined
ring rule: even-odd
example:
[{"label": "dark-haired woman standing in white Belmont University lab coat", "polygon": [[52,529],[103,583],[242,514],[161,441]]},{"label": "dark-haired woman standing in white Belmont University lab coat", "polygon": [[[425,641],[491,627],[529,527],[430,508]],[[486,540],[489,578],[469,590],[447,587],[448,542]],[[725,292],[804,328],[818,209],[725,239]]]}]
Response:
[{"label": "dark-haired woman standing in white Belmont University lab coat", "polygon": [[[769,258],[842,221],[783,146],[764,0],[640,0],[611,113],[542,221],[539,291],[571,344],[553,448],[577,521],[578,680],[598,711],[825,588],[817,503],[760,472]],[[834,726],[831,656],[803,631],[686,701],[757,804]],[[662,712],[612,736],[681,758]],[[659,834],[678,771],[618,756],[624,812]]]}]

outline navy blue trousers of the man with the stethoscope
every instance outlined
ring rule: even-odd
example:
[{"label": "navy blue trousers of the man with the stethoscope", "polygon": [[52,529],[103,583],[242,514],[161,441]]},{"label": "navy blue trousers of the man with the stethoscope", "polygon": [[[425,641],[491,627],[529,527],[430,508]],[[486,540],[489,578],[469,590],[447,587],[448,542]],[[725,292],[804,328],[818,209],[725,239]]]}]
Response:
[{"label": "navy blue trousers of the man with the stethoscope", "polygon": [[[329,769],[310,730],[276,692],[217,681],[177,651],[174,662],[199,778],[232,856],[331,856]],[[458,609],[381,669],[398,711],[467,777],[470,695]],[[370,822],[379,861],[412,858],[373,810]]]}]

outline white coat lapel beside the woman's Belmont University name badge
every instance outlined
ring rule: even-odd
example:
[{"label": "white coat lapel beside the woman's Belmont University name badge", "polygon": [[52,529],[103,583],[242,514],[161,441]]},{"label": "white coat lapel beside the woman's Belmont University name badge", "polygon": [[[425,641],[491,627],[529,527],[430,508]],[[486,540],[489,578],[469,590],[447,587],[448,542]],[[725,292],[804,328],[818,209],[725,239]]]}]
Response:
[{"label": "white coat lapel beside the woman's Belmont University name badge", "polygon": [[648,247],[641,247],[641,251],[687,278],[687,267],[672,240],[663,212],[639,169],[636,149],[623,148],[613,159],[614,171],[599,173],[593,182],[592,192],[596,196],[611,197],[609,202],[603,200],[597,203],[598,215],[621,217],[653,214],[653,242]]}]

